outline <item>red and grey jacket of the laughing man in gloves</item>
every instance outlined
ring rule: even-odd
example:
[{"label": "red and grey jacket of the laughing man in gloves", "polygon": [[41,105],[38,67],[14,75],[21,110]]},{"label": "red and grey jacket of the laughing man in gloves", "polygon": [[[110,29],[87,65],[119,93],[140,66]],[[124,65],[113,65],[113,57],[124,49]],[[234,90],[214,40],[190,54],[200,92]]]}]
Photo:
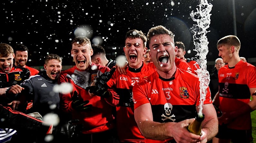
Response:
[{"label": "red and grey jacket of the laughing man in gloves", "polygon": [[[91,67],[94,67],[93,69]],[[73,119],[79,119],[83,124],[82,133],[97,133],[107,131],[114,127],[114,107],[109,105],[104,98],[100,96],[89,95],[85,90],[91,83],[102,73],[109,71],[108,67],[103,67],[92,63],[86,70],[80,70],[76,66],[62,71],[59,77],[59,84],[71,83],[73,91],[67,94],[60,94],[60,105],[62,110],[72,114]],[[89,100],[88,104],[92,104],[92,111],[78,112],[71,107],[74,91],[77,91],[78,96],[84,101]]]}]

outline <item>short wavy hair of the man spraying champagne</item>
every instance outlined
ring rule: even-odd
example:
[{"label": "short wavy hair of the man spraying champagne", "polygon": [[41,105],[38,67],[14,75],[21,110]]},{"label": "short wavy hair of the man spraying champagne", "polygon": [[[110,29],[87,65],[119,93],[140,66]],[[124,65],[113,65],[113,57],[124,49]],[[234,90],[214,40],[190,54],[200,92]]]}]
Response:
[{"label": "short wavy hair of the man spraying champagne", "polygon": [[170,30],[166,29],[164,26],[159,25],[149,29],[147,33],[148,43],[150,44],[151,38],[153,36],[160,35],[160,34],[167,34],[174,40],[174,34]]}]

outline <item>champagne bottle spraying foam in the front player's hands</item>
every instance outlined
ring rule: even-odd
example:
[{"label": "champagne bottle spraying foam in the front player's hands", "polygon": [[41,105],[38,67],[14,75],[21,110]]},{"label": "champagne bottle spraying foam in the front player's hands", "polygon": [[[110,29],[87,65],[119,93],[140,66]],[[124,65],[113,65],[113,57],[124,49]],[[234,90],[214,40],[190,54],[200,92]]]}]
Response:
[{"label": "champagne bottle spraying foam in the front player's hands", "polygon": [[188,131],[191,133],[201,135],[202,122],[204,120],[204,114],[197,114],[193,123],[187,126]]}]

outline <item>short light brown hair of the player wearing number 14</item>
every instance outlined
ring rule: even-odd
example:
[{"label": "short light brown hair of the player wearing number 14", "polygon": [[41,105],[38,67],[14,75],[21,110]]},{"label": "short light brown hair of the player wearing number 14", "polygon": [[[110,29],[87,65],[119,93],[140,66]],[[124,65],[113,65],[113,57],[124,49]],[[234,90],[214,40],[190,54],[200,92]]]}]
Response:
[{"label": "short light brown hair of the player wearing number 14", "polygon": [[234,35],[228,35],[225,36],[223,38],[221,38],[218,42],[217,42],[217,48],[219,49],[219,47],[223,46],[223,45],[230,45],[230,46],[234,46],[235,50],[238,52],[240,50],[240,40],[238,39],[237,36]]}]

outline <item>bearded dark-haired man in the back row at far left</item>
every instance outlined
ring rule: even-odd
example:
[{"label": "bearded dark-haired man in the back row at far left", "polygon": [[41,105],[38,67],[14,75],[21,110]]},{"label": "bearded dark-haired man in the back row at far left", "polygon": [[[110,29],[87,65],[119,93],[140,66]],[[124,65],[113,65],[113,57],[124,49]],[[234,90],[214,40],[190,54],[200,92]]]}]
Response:
[{"label": "bearded dark-haired man in the back row at far left", "polygon": [[15,66],[29,69],[30,75],[37,75],[39,73],[37,69],[26,65],[28,60],[28,48],[25,45],[16,44],[14,47],[14,54]]}]

